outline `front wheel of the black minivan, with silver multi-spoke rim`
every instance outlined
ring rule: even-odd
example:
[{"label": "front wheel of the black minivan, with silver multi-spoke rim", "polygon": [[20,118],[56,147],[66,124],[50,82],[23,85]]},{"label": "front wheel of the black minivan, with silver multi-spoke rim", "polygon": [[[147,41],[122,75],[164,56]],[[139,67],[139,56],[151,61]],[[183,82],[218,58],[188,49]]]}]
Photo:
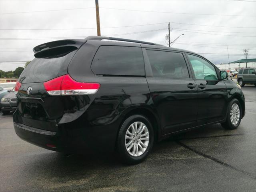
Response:
[{"label": "front wheel of the black minivan, with silver multi-spoke rim", "polygon": [[237,99],[233,99],[228,104],[226,122],[221,125],[225,129],[236,129],[240,125],[241,119],[242,107]]}]

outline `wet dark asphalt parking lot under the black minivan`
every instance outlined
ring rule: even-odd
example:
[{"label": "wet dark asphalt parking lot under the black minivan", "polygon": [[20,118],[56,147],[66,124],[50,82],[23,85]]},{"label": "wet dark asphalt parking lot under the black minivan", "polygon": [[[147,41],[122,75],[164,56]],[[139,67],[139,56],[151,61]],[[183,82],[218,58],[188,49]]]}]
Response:
[{"label": "wet dark asphalt parking lot under the black minivan", "polygon": [[134,166],[33,146],[0,114],[0,191],[256,191],[256,87],[242,90],[246,116],[237,130],[216,124],[172,136]]}]

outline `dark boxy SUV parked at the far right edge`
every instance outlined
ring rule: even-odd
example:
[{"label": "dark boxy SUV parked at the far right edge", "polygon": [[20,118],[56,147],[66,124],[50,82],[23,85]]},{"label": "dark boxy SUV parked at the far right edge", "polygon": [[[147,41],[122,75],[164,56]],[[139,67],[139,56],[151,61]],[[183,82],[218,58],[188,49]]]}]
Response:
[{"label": "dark boxy SUV parked at the far right edge", "polygon": [[240,69],[236,78],[241,87],[250,83],[256,86],[256,68]]}]

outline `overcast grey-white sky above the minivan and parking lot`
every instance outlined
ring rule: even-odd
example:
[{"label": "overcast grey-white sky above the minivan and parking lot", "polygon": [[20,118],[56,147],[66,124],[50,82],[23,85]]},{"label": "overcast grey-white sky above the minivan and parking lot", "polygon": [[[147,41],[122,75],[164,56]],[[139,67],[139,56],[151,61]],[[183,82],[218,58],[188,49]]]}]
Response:
[{"label": "overcast grey-white sky above the minivan and parking lot", "polygon": [[[102,36],[167,45],[171,22],[171,41],[184,34],[172,47],[200,53],[214,64],[228,62],[226,44],[230,62],[245,58],[243,49],[256,58],[255,0],[99,0],[99,7]],[[97,35],[95,1],[1,0],[0,29],[0,69],[15,70],[24,62],[13,61],[34,58],[34,46]]]}]

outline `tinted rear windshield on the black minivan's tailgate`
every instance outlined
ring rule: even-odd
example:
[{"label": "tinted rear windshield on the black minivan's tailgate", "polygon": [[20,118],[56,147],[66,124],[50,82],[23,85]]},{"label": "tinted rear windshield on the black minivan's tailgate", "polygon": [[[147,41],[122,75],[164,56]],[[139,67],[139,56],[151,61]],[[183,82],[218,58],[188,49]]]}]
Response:
[{"label": "tinted rear windshield on the black minivan's tailgate", "polygon": [[77,50],[54,58],[34,58],[20,75],[19,82],[36,83],[67,74],[68,64]]}]

